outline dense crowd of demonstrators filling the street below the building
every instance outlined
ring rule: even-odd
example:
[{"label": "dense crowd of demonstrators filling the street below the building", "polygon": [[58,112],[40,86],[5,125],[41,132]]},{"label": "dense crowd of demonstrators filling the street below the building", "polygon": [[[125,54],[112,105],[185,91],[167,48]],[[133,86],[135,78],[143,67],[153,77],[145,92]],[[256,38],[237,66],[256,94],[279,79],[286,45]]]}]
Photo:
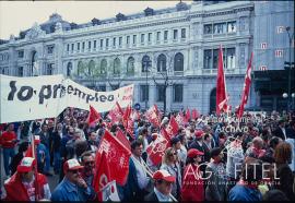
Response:
[{"label": "dense crowd of demonstrators filling the street below the building", "polygon": [[[145,114],[137,114],[132,134],[122,119],[111,123],[104,115],[88,126],[87,111],[72,108],[56,119],[2,124],[5,182],[1,200],[98,200],[93,186],[95,154],[106,130],[114,136],[121,130],[130,142],[127,182],[117,184],[121,201],[295,200],[294,112],[245,114],[247,119],[241,121],[231,120],[234,115],[200,115],[178,123],[162,163],[155,165],[146,148],[173,116],[177,112],[162,118],[156,127]],[[36,145],[36,160],[26,156],[31,142]],[[59,176],[59,184],[51,190],[49,176]]]}]

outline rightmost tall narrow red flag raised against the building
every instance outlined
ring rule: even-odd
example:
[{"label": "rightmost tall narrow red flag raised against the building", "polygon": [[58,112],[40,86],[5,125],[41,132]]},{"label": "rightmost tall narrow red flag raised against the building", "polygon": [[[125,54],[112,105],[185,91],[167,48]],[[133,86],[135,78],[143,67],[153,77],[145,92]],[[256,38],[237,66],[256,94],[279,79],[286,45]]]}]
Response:
[{"label": "rightmost tall narrow red flag raised against the building", "polygon": [[250,85],[251,85],[252,57],[253,57],[253,53],[251,53],[250,61],[248,63],[247,72],[245,75],[244,91],[243,91],[241,100],[240,100],[240,105],[238,107],[238,114],[237,114],[238,118],[243,116],[245,105],[247,104],[248,97],[249,97]]}]

